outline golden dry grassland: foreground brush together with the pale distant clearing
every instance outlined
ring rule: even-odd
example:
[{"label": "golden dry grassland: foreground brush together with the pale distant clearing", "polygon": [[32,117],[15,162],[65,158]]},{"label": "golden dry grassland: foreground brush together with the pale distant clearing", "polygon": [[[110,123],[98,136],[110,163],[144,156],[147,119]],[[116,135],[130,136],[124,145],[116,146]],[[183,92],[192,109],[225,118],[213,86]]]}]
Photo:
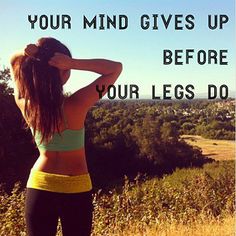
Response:
[{"label": "golden dry grassland: foreground brush together with the pale distant clearing", "polygon": [[[92,236],[235,235],[234,143],[184,138],[220,161],[94,193]],[[26,236],[24,198],[18,185],[0,193],[0,236]]]}]

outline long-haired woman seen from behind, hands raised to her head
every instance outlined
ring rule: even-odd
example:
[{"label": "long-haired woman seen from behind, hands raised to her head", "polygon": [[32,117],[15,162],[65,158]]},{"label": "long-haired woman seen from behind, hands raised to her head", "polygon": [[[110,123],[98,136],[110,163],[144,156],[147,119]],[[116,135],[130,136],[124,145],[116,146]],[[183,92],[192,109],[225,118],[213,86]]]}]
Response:
[{"label": "long-haired woman seen from behind, hands raised to her head", "polygon": [[[59,218],[63,235],[90,235],[92,184],[84,150],[84,121],[99,99],[96,85],[107,88],[113,84],[122,65],[105,59],[74,59],[54,38],[28,45],[23,55],[12,58],[11,65],[16,104],[40,152],[27,182],[28,235],[55,235]],[[63,85],[71,69],[101,76],[65,97]]]}]

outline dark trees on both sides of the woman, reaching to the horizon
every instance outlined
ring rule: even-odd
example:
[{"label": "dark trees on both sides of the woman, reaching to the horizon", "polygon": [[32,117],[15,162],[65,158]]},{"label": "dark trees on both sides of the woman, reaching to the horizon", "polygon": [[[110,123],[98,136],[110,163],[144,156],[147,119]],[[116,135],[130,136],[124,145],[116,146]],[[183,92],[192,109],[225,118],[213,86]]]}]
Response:
[{"label": "dark trees on both sides of the woman, reaching to the horizon", "polygon": [[[0,73],[0,179],[10,191],[26,183],[38,156],[30,131],[9,87],[9,70]],[[123,182],[138,173],[161,176],[175,168],[211,161],[182,141],[181,134],[233,138],[232,101],[101,101],[87,114],[86,156],[96,188]]]}]

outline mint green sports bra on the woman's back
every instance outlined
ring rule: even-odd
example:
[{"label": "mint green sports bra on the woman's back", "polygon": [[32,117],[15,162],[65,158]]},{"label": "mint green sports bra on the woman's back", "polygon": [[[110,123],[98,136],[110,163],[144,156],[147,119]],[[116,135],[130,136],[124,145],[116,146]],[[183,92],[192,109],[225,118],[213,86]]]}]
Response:
[{"label": "mint green sports bra on the woman's back", "polygon": [[[64,114],[64,113],[63,113]],[[66,129],[59,133],[55,133],[48,143],[41,143],[41,134],[36,131],[35,143],[38,149],[47,151],[73,151],[84,147],[84,127],[79,130],[68,129],[68,124],[64,115]]]}]

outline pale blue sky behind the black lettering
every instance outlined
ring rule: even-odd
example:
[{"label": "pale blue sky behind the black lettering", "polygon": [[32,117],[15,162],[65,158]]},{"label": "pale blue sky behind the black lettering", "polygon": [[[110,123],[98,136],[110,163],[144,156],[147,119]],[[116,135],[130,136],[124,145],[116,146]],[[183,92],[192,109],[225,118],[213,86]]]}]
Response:
[{"label": "pale blue sky behind the black lettering", "polygon": [[[40,29],[36,23],[31,29],[28,15],[70,15],[71,29]],[[95,15],[112,17],[126,15],[128,27],[119,29],[83,29],[83,16],[92,20]],[[150,17],[150,27],[140,26],[142,15]],[[158,14],[158,30],[152,30],[153,14]],[[168,29],[161,15],[172,14]],[[183,30],[175,30],[175,15],[183,15]],[[187,15],[194,16],[194,29],[185,28]],[[227,15],[229,21],[223,29],[210,30],[208,15]],[[98,17],[99,19],[99,17]],[[106,22],[106,21],[105,21]],[[98,21],[99,25],[99,21]],[[207,92],[207,85],[226,84],[235,91],[235,3],[234,0],[147,0],[147,1],[56,1],[56,0],[0,0],[0,68],[9,67],[9,58],[25,45],[35,43],[40,37],[59,39],[71,50],[74,58],[106,58],[120,61],[123,71],[115,85],[136,84],[140,98],[151,97],[152,85],[156,94],[162,96],[163,84],[171,84],[171,93],[177,84],[192,84],[195,93]],[[163,50],[194,49],[193,59],[186,65],[163,65]],[[228,50],[228,65],[199,65],[199,50]],[[181,61],[185,61],[185,54]],[[73,71],[65,90],[74,92],[97,78],[91,72]]]}]

